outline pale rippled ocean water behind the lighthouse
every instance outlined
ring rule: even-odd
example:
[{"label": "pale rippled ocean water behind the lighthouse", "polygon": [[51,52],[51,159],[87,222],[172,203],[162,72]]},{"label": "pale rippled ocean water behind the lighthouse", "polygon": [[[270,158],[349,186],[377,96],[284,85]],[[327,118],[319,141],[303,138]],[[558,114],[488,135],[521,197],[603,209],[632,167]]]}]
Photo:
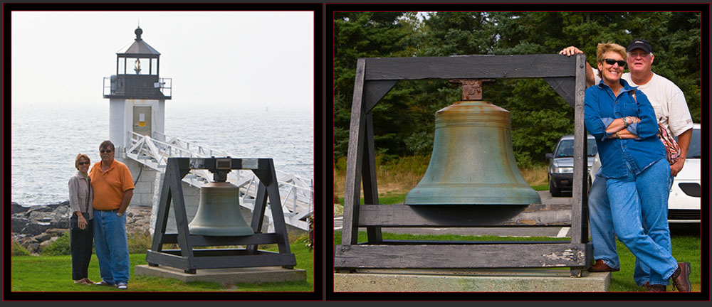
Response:
[{"label": "pale rippled ocean water behind the lighthouse", "polygon": [[[313,126],[311,110],[179,112],[166,107],[164,132],[235,158],[273,158],[278,171],[313,178]],[[108,136],[108,105],[12,109],[11,201],[46,205],[68,200],[75,157],[83,153],[92,163],[99,161],[99,144]]]}]

